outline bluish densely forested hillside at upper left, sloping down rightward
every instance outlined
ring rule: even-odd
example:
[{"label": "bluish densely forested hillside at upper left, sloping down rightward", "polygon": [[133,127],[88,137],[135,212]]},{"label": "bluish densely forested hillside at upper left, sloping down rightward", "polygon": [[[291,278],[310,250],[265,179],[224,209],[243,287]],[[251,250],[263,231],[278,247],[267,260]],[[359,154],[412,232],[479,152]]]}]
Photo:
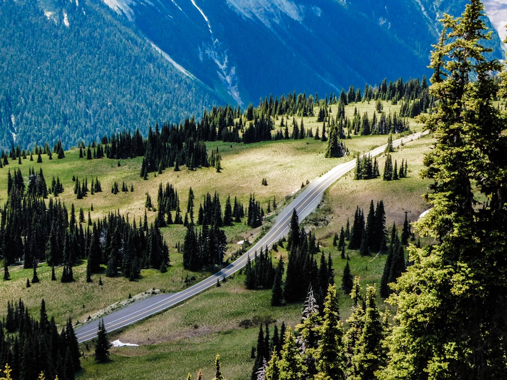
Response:
[{"label": "bluish densely forested hillside at upper left, sloping down rightward", "polygon": [[102,3],[46,3],[0,8],[1,146],[146,134],[156,121],[179,122],[219,101]]}]

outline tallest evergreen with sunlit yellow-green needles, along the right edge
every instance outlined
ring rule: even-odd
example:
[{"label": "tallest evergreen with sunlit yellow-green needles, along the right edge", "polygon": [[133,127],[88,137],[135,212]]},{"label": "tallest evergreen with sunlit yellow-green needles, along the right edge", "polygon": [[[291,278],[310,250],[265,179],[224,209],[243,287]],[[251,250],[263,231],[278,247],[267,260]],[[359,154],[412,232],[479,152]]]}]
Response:
[{"label": "tallest evergreen with sunlit yellow-green needles, along the right edge", "polygon": [[426,196],[433,208],[416,226],[434,243],[410,249],[413,265],[389,298],[396,326],[382,379],[507,378],[507,284],[498,281],[507,273],[499,248],[507,239],[507,177],[499,174],[507,137],[493,104],[492,72],[501,65],[485,58],[481,40],[491,32],[482,16],[479,0],[460,17],[446,15],[432,53],[436,102],[426,125],[437,140],[423,175],[434,181]]}]

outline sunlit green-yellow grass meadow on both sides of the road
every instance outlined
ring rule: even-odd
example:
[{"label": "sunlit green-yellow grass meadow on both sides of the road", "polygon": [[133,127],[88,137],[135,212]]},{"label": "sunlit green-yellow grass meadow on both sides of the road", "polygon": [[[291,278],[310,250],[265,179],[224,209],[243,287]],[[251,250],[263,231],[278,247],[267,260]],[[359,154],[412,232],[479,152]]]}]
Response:
[{"label": "sunlit green-yellow grass meadow on both sides of the road", "polygon": [[[393,107],[389,104],[384,105]],[[369,112],[373,115],[374,102],[357,103],[347,106],[347,115],[352,115],[354,107],[362,115]],[[336,112],[333,109],[332,112]],[[332,113],[333,115],[333,113]],[[292,117],[289,118],[292,121]],[[301,118],[296,118],[298,123]],[[304,118],[305,129],[318,128],[316,118]],[[280,120],[277,120],[277,125]],[[414,131],[421,130],[422,125],[411,121]],[[290,123],[289,123],[290,125]],[[393,136],[395,137],[395,136]],[[70,210],[74,203],[76,212],[82,208],[85,218],[90,212],[92,220],[101,218],[109,212],[128,214],[129,219],[139,220],[147,212],[149,220],[155,218],[154,211],[147,211],[144,207],[146,194],[150,194],[156,203],[159,184],[171,183],[178,191],[181,209],[186,210],[187,195],[192,186],[198,208],[204,195],[215,191],[221,196],[222,207],[228,195],[235,196],[246,207],[250,194],[255,194],[257,200],[266,210],[268,201],[276,198],[278,206],[291,197],[302,183],[311,181],[315,177],[327,172],[332,167],[353,159],[357,154],[370,150],[387,142],[387,136],[352,136],[344,141],[350,155],[337,159],[324,159],[323,153],[326,143],[310,138],[302,140],[282,140],[260,142],[254,144],[238,144],[212,142],[207,143],[208,151],[218,148],[221,155],[221,173],[214,168],[201,168],[188,171],[174,172],[171,168],[157,175],[150,174],[149,180],[139,176],[142,158],[121,160],[92,160],[79,158],[79,150],[73,149],[65,152],[65,159],[48,160],[43,155],[43,163],[37,164],[29,159],[17,160],[0,169],[0,204],[7,200],[7,171],[11,172],[18,167],[25,180],[28,168],[36,172],[43,169],[46,182],[51,183],[53,176],[59,176],[64,186],[64,193],[58,200],[64,202]],[[313,229],[319,239],[322,250],[327,255],[332,253],[335,281],[339,286],[345,261],[332,246],[332,238],[339,233],[340,227],[345,225],[347,218],[352,223],[356,206],[368,213],[370,201],[375,203],[382,199],[385,204],[387,225],[390,228],[393,222],[401,229],[405,212],[408,217],[415,220],[417,216],[427,209],[422,199],[428,182],[418,177],[422,168],[423,155],[429,149],[431,137],[406,144],[392,154],[393,160],[398,164],[402,159],[408,161],[408,178],[398,181],[353,180],[353,173],[349,173],[324,194],[321,206],[305,221],[305,229]],[[34,157],[34,160],[36,157]],[[382,174],[384,158],[378,159],[380,173]],[[74,195],[74,182],[76,176],[82,181],[98,178],[101,182],[102,193],[88,195],[83,200],[77,200]],[[268,185],[261,184],[266,178]],[[125,182],[134,192],[113,195],[111,186],[114,181],[120,185]],[[91,210],[93,205],[93,211]],[[86,228],[86,223],[85,226]],[[145,269],[141,272],[138,281],[129,282],[124,278],[107,278],[102,276],[103,285],[98,285],[99,275],[93,275],[93,282],[86,283],[86,265],[81,263],[73,268],[76,281],[70,284],[61,284],[51,281],[51,268],[40,264],[38,275],[39,284],[26,288],[26,279],[31,279],[32,270],[21,267],[11,267],[10,281],[0,281],[0,294],[4,305],[0,305],[0,315],[5,315],[6,301],[21,298],[30,312],[37,315],[42,298],[46,300],[48,315],[53,315],[57,323],[64,323],[68,316],[74,321],[84,321],[93,317],[101,310],[113,305],[115,302],[125,301],[129,295],[150,292],[153,288],[164,292],[175,292],[187,286],[187,277],[195,276],[195,281],[207,276],[208,273],[190,273],[183,269],[182,255],[176,252],[175,245],[183,242],[185,227],[171,225],[162,229],[170,248],[171,265],[168,272]],[[227,227],[226,234],[229,240],[230,251],[233,252],[238,240],[255,238],[257,231],[251,231],[244,223]],[[359,276],[363,283],[379,282],[384,256],[359,257],[355,251],[350,255],[350,267],[354,276]],[[286,255],[281,249],[277,256]],[[286,262],[286,260],[285,260]],[[56,268],[56,277],[61,275],[62,268]],[[222,358],[222,372],[229,380],[243,380],[250,377],[253,359],[250,359],[250,349],[256,345],[259,326],[249,328],[239,326],[244,320],[276,320],[278,325],[284,321],[294,326],[301,318],[302,304],[288,305],[283,308],[270,306],[271,291],[246,291],[243,286],[244,277],[236,274],[234,278],[223,283],[221,287],[214,287],[204,293],[186,301],[146,321],[128,327],[122,331],[110,334],[110,339],[119,338],[122,341],[139,344],[140,347],[124,347],[112,349],[112,362],[96,364],[93,360],[92,343],[82,346],[85,357],[82,359],[84,369],[79,374],[80,379],[123,379],[123,378],[151,378],[151,379],[184,379],[187,373],[196,378],[197,371],[202,368],[204,378],[211,378],[214,374],[213,361],[217,353]],[[340,296],[341,316],[345,320],[350,313],[350,300],[348,296]]]}]

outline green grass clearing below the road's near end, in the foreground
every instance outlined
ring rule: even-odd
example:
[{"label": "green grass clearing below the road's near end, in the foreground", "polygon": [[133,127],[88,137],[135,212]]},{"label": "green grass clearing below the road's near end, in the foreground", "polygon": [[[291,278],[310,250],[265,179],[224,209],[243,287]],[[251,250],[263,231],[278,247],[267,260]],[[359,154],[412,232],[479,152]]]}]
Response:
[{"label": "green grass clearing below the road's near end, in the foreground", "polygon": [[[194,297],[184,305],[114,334],[122,341],[136,342],[138,348],[113,349],[113,362],[97,365],[93,350],[82,361],[80,378],[113,379],[196,377],[202,368],[205,378],[214,373],[213,360],[220,353],[223,373],[228,379],[247,379],[253,365],[250,348],[255,346],[259,326],[239,327],[245,319],[276,320],[294,325],[299,322],[300,305],[270,306],[270,291],[246,291],[243,276],[211,288],[205,296]],[[85,349],[86,350],[86,349]],[[150,365],[145,365],[150,364]]]}]

